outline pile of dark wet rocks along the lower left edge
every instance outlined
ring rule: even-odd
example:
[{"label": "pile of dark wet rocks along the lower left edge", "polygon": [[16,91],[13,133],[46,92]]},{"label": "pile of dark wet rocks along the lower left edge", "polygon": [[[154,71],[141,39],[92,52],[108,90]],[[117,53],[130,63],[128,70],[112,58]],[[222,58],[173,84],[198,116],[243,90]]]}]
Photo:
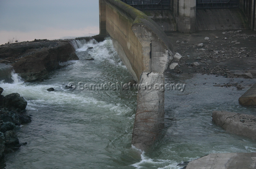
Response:
[{"label": "pile of dark wet rocks along the lower left edge", "polygon": [[0,88],[0,158],[4,153],[17,150],[21,145],[16,131],[21,124],[31,122],[26,114],[27,101],[18,93],[3,96]]}]

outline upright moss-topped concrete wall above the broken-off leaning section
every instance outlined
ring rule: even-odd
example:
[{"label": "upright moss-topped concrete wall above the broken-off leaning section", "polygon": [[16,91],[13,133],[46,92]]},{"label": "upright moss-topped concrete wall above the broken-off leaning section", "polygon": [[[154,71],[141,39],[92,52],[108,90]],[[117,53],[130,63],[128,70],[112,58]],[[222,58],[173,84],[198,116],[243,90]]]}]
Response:
[{"label": "upright moss-topped concrete wall above the broken-off leaning section", "polygon": [[163,73],[172,52],[161,28],[143,12],[120,0],[100,0],[100,6],[100,22],[105,22],[101,28],[106,27],[132,76],[139,81],[142,72]]}]

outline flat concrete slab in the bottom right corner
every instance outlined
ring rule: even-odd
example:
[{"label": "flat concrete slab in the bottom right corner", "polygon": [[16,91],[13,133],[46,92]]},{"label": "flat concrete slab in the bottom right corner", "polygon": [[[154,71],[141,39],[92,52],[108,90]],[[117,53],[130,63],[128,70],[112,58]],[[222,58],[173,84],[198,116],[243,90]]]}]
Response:
[{"label": "flat concrete slab in the bottom right corner", "polygon": [[256,168],[256,153],[214,153],[190,161],[186,169]]}]

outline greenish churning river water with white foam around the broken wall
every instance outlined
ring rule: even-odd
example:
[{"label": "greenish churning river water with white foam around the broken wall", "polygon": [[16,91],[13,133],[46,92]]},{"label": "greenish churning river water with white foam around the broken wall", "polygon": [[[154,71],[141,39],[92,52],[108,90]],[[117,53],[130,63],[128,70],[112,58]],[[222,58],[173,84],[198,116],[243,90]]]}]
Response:
[{"label": "greenish churning river water with white foam around the broken wall", "polygon": [[[78,61],[61,63],[43,82],[25,83],[1,65],[3,95],[19,93],[28,101],[32,122],[21,126],[20,142],[28,144],[5,155],[6,168],[182,168],[177,164],[215,152],[256,152],[255,141],[212,124],[213,110],[253,114],[238,104],[254,80],[165,74],[165,83],[186,84],[185,90],[165,91],[165,133],[147,153],[131,146],[135,90],[109,84],[132,79],[111,40],[72,41]],[[88,49],[93,47],[93,49]],[[94,60],[85,60],[94,58]],[[80,82],[80,83],[79,83]],[[239,82],[246,86],[213,87]],[[67,86],[72,86],[68,88]],[[105,84],[105,88],[86,88]],[[76,87],[75,87],[76,85]],[[54,92],[46,89],[53,87]]]}]

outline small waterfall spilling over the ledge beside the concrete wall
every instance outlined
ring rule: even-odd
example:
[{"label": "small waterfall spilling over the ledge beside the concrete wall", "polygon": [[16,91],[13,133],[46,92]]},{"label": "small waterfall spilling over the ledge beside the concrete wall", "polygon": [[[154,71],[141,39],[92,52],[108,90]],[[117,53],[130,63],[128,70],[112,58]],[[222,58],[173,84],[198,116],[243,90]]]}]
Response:
[{"label": "small waterfall spilling over the ledge beside the concrete wall", "polygon": [[84,47],[84,45],[93,45],[97,44],[98,42],[93,39],[92,37],[82,37],[70,40],[69,43],[76,49]]}]

